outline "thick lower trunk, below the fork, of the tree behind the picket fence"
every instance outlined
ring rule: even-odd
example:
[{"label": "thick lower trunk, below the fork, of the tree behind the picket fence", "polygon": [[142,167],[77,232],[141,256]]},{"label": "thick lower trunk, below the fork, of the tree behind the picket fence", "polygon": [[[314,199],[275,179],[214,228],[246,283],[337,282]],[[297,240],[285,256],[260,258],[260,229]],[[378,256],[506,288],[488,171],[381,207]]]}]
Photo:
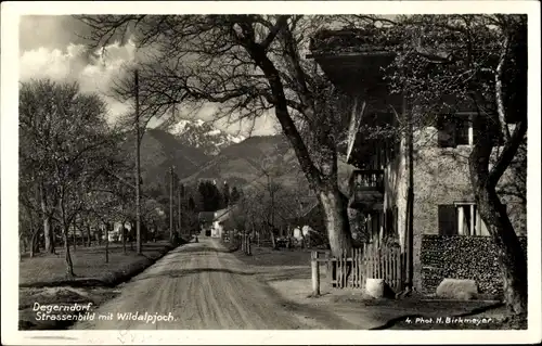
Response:
[{"label": "thick lower trunk, below the fork, of the tree behind the picket fence", "polygon": [[338,188],[319,193],[323,206],[327,238],[334,256],[352,249],[352,235],[348,223],[347,201]]}]

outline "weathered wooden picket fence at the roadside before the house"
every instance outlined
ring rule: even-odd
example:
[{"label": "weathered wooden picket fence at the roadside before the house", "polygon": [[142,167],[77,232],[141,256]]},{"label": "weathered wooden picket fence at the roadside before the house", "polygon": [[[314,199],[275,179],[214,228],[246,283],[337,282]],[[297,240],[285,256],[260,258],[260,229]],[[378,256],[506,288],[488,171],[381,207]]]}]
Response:
[{"label": "weathered wooden picket fence at the roadside before the house", "polygon": [[[320,294],[320,264],[325,264],[326,279],[332,287],[364,289],[365,279],[384,279],[397,293],[403,289],[404,256],[399,246],[364,244],[332,257],[328,251],[311,253],[312,284],[314,294]],[[318,274],[318,278],[314,275]],[[317,287],[318,284],[318,287]],[[317,293],[318,292],[318,293]]]}]

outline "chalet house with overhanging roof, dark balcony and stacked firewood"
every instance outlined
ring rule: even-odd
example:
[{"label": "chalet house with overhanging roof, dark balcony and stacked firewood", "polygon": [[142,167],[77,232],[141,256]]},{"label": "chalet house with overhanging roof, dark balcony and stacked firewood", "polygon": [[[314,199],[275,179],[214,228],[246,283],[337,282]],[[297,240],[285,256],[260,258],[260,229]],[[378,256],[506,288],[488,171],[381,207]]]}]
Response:
[{"label": "chalet house with overhanging roof, dark balcony and stacked firewood", "polygon": [[[370,242],[399,244],[406,281],[417,291],[435,293],[443,278],[457,278],[475,279],[482,293],[500,293],[493,244],[468,176],[475,113],[460,107],[453,121],[438,114],[437,124],[413,129],[412,141],[400,131],[367,133],[365,125],[397,126],[397,114],[410,106],[402,95],[389,93],[383,78],[382,67],[393,60],[393,51],[367,31],[348,29],[317,33],[310,52],[308,57],[350,100],[354,130],[347,161],[357,168],[349,178],[352,229],[363,229]],[[509,171],[501,182],[506,180],[515,180]],[[525,234],[525,201],[501,198],[516,232]]]}]

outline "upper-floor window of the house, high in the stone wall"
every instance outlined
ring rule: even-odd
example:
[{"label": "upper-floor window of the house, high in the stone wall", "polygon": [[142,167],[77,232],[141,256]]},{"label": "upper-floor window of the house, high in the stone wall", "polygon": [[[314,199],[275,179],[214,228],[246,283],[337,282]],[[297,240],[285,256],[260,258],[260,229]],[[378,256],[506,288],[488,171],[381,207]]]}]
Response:
[{"label": "upper-floor window of the house, high in the stone wall", "polygon": [[472,145],[474,142],[469,113],[443,114],[438,119],[437,128],[440,148]]}]

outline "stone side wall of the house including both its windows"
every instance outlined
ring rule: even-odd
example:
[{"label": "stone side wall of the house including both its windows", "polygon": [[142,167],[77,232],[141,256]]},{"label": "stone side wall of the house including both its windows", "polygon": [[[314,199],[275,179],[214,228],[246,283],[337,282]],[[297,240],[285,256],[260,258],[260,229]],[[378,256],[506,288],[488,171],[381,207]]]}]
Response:
[{"label": "stone side wall of the house including both its windows", "polygon": [[[448,141],[436,127],[414,134],[414,281],[418,289],[422,234],[489,235],[474,203],[470,185],[468,155],[473,132],[469,125],[457,128],[461,133],[456,131],[454,139]],[[499,187],[515,181],[514,172],[507,170]],[[525,234],[526,210],[521,198],[501,194],[501,202],[506,205],[516,232]]]}]

